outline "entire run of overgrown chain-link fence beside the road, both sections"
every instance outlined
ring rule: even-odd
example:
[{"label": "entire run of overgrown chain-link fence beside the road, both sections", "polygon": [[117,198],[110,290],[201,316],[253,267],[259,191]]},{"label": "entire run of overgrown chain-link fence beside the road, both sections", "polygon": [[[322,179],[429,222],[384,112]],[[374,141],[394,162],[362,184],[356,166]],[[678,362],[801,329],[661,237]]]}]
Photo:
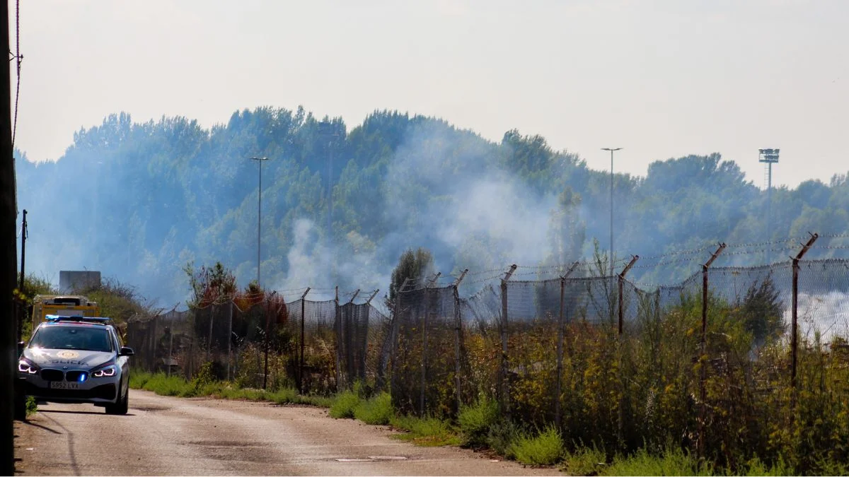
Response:
[{"label": "entire run of overgrown chain-link fence beside the road, both sections", "polygon": [[127,336],[149,370],[191,378],[211,362],[242,386],[324,395],[361,382],[422,415],[493,400],[568,441],[635,448],[673,436],[700,452],[768,452],[779,438],[838,445],[846,435],[787,429],[843,429],[824,427],[822,414],[849,415],[849,261],[710,263],[650,287],[591,266],[536,280],[511,279],[513,267],[463,298],[458,283],[402,289],[391,319],[357,294],[228,301],[132,321]]}]

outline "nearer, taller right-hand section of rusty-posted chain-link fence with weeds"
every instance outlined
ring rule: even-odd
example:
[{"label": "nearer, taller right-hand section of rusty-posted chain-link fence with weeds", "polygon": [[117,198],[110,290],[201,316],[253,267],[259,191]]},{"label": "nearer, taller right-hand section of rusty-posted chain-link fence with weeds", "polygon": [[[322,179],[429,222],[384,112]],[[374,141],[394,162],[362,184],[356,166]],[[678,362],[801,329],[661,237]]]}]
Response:
[{"label": "nearer, taller right-hand section of rusty-posted chain-link fence with weeds", "polygon": [[669,435],[698,449],[764,446],[800,396],[849,410],[828,397],[846,387],[833,360],[849,354],[849,261],[799,261],[798,286],[793,267],[704,267],[651,289],[578,276],[501,280],[463,299],[455,286],[403,290],[393,403],[452,415],[493,399],[518,422],[613,446]]}]

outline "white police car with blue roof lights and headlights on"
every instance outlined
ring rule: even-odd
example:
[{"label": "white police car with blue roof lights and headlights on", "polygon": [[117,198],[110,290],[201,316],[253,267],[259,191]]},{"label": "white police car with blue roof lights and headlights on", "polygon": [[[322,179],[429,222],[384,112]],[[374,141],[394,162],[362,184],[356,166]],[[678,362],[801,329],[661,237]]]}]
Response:
[{"label": "white police car with blue roof lights and headlights on", "polygon": [[110,318],[48,315],[18,359],[19,389],[36,401],[89,402],[126,414],[132,354]]}]

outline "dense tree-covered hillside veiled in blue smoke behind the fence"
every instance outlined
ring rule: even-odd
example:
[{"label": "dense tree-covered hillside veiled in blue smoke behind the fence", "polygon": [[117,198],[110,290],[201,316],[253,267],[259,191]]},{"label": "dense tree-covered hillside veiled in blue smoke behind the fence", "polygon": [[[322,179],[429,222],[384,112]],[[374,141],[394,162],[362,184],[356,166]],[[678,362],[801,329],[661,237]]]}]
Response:
[{"label": "dense tree-covered hillside veiled in blue smoke behind the fence", "polygon": [[[571,261],[591,255],[593,237],[606,246],[610,233],[609,171],[540,136],[513,130],[493,143],[391,111],[351,129],[304,109],[245,109],[209,129],[121,113],[76,132],[55,162],[18,154],[27,266],[48,276],[100,270],[166,303],[191,295],[180,269],[192,260],[222,261],[247,283],[259,199],[249,158],[258,156],[270,159],[261,166],[261,270],[271,289],[387,290],[399,255],[419,246],[444,274]],[[719,154],[659,160],[645,177],[615,182],[617,255],[766,239],[767,194]],[[846,175],[775,189],[772,200],[770,239],[846,232]],[[765,260],[759,250],[717,266]],[[689,272],[672,265],[632,277],[658,283]]]}]

